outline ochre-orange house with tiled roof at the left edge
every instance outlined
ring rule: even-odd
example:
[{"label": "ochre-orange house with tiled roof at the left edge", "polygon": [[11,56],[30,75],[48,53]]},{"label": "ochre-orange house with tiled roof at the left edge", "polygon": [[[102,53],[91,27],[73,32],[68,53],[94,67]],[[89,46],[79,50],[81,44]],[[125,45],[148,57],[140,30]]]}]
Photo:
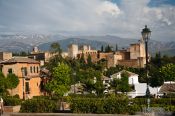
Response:
[{"label": "ochre-orange house with tiled roof at the left edge", "polygon": [[10,92],[12,95],[18,94],[21,99],[30,99],[40,95],[39,77],[40,63],[27,57],[14,57],[1,62],[2,72],[5,76],[13,73],[19,78],[18,86]]}]

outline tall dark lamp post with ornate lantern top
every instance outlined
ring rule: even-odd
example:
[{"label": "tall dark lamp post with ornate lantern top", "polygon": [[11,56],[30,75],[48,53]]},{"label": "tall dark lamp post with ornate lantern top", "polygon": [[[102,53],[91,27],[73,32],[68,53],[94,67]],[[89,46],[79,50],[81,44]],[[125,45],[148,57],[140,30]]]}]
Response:
[{"label": "tall dark lamp post with ornate lantern top", "polygon": [[146,89],[146,97],[147,97],[147,111],[149,111],[150,106],[150,90],[149,90],[149,82],[148,82],[148,40],[151,36],[151,30],[147,28],[147,25],[145,25],[145,28],[142,29],[142,37],[145,42],[145,52],[146,52],[146,80],[147,80],[147,89]]}]

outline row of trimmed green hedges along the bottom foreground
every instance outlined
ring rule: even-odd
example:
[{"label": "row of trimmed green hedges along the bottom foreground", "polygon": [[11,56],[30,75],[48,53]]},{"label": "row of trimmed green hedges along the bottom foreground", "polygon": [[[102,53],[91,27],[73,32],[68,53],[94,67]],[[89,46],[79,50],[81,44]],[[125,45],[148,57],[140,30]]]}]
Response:
[{"label": "row of trimmed green hedges along the bottom foreground", "polygon": [[[34,97],[21,105],[20,112],[55,112],[60,108],[62,98]],[[128,99],[124,95],[98,97],[67,96],[64,101],[70,103],[74,113],[96,114],[135,114],[147,106],[146,98]],[[150,107],[162,107],[165,111],[175,111],[175,99],[151,99]]]}]

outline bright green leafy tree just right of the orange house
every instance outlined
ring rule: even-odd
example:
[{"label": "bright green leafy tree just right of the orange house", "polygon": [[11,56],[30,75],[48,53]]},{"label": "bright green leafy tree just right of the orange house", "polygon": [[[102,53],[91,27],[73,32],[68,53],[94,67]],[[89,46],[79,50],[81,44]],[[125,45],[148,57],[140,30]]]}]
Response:
[{"label": "bright green leafy tree just right of the orange house", "polygon": [[46,84],[46,90],[52,94],[63,96],[71,84],[71,68],[65,63],[59,63],[53,68],[53,78]]}]

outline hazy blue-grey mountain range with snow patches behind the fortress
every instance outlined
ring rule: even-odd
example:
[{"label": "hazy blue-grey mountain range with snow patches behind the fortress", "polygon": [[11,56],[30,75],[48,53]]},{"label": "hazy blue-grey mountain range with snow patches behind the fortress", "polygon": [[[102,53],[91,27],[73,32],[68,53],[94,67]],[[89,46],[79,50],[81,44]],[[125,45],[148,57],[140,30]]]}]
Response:
[{"label": "hazy blue-grey mountain range with snow patches behind the fortress", "polygon": [[[101,46],[111,45],[115,49],[116,44],[119,49],[127,48],[131,43],[138,42],[138,39],[121,38],[117,36],[63,36],[63,35],[0,35],[0,51],[31,51],[33,46],[38,46],[41,50],[49,50],[50,44],[59,42],[61,48],[67,51],[69,44],[78,45],[88,44],[94,49],[100,49]],[[148,44],[151,54],[161,52],[163,55],[175,55],[175,41],[162,42],[150,40]]]}]

